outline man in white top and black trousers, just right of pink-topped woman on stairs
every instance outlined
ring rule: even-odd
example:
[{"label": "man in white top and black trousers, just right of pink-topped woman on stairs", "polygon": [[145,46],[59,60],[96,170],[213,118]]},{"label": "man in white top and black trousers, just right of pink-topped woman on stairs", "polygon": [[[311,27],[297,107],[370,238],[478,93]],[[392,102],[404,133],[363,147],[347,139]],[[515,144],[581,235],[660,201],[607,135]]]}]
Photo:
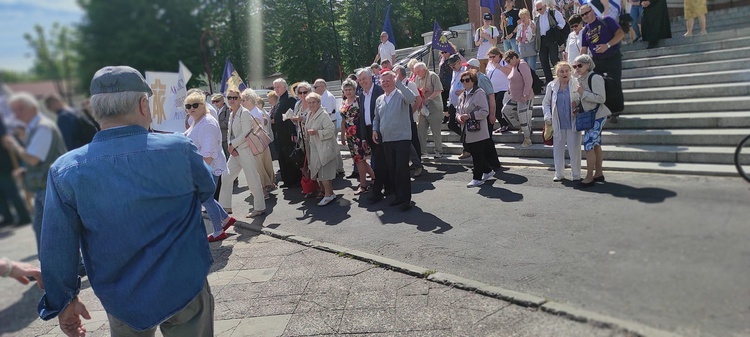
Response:
[{"label": "man in white top and black trousers, just right of pink-topped woman on stairs", "polygon": [[[559,29],[565,27],[565,18],[559,11],[552,10],[545,5],[544,0],[534,1],[534,7],[536,8],[537,17],[534,18],[536,24],[536,32],[534,36],[540,37],[536,40],[536,50],[539,51],[539,62],[542,64],[542,70],[544,71],[544,81],[546,83],[552,82],[552,67],[554,67],[558,61],[560,61],[560,52],[558,50],[557,41],[554,39],[554,33],[561,34],[559,32],[552,32],[555,29],[554,23]],[[555,22],[551,22],[550,14],[554,14]]]}]

